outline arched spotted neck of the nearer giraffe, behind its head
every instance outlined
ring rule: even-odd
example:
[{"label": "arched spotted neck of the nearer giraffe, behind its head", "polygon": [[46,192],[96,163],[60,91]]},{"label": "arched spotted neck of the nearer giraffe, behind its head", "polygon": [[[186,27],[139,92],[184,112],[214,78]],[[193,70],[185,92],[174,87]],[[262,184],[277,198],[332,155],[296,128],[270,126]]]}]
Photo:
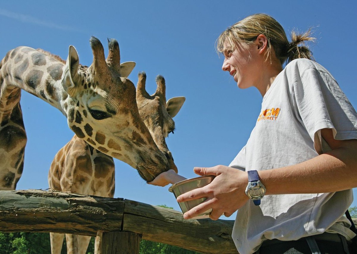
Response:
[{"label": "arched spotted neck of the nearer giraffe, behind its head", "polygon": [[16,106],[22,89],[67,116],[67,105],[71,99],[61,85],[64,67],[64,61],[29,47],[21,46],[9,51],[1,62],[0,113]]}]

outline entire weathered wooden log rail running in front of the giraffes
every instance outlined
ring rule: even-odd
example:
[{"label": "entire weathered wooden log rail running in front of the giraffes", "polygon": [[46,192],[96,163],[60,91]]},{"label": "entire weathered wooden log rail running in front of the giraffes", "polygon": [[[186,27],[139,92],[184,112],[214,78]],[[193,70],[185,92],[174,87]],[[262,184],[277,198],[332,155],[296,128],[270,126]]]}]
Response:
[{"label": "entire weathered wooden log rail running in front of the giraffes", "polygon": [[232,227],[233,220],[185,220],[179,211],[122,198],[43,190],[0,191],[0,231],[90,236],[104,231],[108,233],[103,233],[102,253],[124,253],[115,252],[113,243],[119,242],[115,232],[125,232],[120,235],[122,243],[135,242],[132,248],[136,249],[125,253],[138,253],[140,237],[201,253],[237,253]]}]

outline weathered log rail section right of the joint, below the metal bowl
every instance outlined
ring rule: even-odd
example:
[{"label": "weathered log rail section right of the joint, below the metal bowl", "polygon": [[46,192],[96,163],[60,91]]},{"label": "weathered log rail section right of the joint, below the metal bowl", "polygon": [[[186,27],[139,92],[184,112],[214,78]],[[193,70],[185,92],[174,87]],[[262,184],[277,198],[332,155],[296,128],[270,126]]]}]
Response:
[{"label": "weathered log rail section right of the joint, below the metal bowl", "polygon": [[231,238],[233,223],[233,220],[185,220],[179,211],[132,200],[125,200],[124,205],[124,231],[201,253],[238,253]]}]

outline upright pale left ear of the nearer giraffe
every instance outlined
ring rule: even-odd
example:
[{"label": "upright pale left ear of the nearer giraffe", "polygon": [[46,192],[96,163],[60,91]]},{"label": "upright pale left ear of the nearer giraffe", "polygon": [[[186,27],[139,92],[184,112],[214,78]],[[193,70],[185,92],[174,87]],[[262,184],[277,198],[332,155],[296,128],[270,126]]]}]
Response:
[{"label": "upright pale left ear of the nearer giraffe", "polygon": [[78,82],[78,66],[79,58],[76,49],[74,46],[69,46],[68,57],[66,65],[62,74],[62,86],[69,94],[69,96],[75,95],[76,83]]}]

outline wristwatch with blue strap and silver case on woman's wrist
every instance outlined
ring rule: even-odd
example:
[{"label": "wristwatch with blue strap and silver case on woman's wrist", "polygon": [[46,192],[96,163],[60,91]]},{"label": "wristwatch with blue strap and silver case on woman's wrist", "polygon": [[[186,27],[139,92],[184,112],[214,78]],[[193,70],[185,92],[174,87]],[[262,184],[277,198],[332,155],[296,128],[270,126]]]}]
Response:
[{"label": "wristwatch with blue strap and silver case on woman's wrist", "polygon": [[255,205],[260,205],[260,200],[264,196],[266,189],[261,183],[257,170],[250,170],[248,172],[248,186],[246,189],[247,196],[253,200]]}]

